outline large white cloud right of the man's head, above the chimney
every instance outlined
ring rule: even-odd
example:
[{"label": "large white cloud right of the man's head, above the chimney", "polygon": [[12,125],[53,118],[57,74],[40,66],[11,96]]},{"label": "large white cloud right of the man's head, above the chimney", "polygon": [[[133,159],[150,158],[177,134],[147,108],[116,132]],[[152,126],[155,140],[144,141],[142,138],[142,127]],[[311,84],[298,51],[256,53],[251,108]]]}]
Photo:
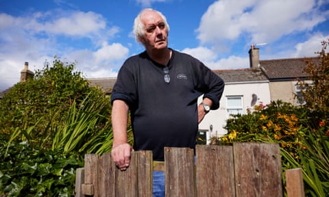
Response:
[{"label": "large white cloud right of the man's head, above the chimney", "polygon": [[239,39],[252,43],[273,42],[284,35],[312,29],[323,22],[313,0],[222,0],[202,16],[197,36],[201,44],[227,48]]}]

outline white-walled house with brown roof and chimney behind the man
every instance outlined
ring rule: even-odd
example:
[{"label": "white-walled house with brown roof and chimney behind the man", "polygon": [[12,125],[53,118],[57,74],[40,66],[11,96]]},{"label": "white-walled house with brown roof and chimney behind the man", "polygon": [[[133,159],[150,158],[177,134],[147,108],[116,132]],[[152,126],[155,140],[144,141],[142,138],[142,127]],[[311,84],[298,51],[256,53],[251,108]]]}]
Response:
[{"label": "white-walled house with brown roof and chimney behind the man", "polygon": [[[259,58],[258,54],[258,49],[250,49],[250,61]],[[269,79],[258,64],[251,63],[250,68],[214,72],[225,81],[225,90],[219,109],[210,111],[199,124],[199,137],[206,141],[227,133],[223,127],[226,120],[231,118],[230,114],[246,114],[247,111],[252,111],[254,105],[271,102]]]}]

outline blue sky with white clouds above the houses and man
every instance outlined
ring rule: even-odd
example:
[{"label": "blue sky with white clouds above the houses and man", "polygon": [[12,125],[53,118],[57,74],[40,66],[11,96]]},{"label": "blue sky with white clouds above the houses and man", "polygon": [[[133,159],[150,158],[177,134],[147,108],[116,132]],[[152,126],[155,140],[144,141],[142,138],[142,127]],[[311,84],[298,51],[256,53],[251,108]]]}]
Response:
[{"label": "blue sky with white clouds above the houses and man", "polygon": [[116,77],[144,51],[132,34],[144,8],[169,23],[169,47],[212,70],[249,68],[260,60],[314,57],[329,38],[329,0],[0,0],[0,92],[54,57],[75,62],[86,78]]}]

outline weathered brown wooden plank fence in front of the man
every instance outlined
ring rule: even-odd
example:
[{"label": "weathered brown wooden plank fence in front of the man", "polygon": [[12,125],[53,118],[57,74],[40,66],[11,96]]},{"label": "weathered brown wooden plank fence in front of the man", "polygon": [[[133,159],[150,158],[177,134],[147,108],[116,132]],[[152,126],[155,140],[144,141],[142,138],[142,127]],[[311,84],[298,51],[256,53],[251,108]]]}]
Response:
[{"label": "weathered brown wooden plank fence in front of the man", "polygon": [[[152,196],[153,170],[164,170],[166,196],[283,196],[278,144],[198,145],[195,151],[197,159],[191,148],[164,148],[163,164],[152,161],[151,151],[135,151],[125,171],[110,153],[86,154],[75,196]],[[301,173],[287,173],[288,196],[304,195]]]}]

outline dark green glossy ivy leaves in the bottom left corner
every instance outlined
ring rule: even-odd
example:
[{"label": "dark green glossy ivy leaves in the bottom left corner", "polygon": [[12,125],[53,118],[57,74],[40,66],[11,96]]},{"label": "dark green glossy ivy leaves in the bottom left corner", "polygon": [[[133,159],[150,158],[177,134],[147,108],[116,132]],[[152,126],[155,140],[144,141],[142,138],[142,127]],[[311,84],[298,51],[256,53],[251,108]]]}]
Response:
[{"label": "dark green glossy ivy leaves in the bottom left corner", "polygon": [[[7,196],[71,196],[75,169],[82,158],[61,150],[35,149],[26,141],[15,140],[8,152],[0,142],[0,191]],[[6,155],[4,155],[6,153]]]}]

